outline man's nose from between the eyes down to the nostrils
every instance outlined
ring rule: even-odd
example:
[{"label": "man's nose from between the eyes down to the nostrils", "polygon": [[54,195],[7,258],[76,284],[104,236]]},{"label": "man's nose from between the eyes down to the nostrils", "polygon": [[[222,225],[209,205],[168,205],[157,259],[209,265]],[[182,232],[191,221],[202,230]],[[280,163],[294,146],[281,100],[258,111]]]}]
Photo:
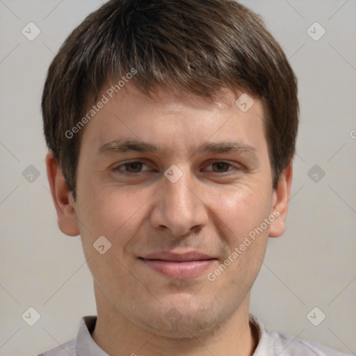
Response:
[{"label": "man's nose from between the eyes down to the nostrils", "polygon": [[204,190],[191,173],[186,170],[174,183],[165,177],[163,179],[150,214],[152,226],[171,236],[184,236],[207,225],[209,218]]}]

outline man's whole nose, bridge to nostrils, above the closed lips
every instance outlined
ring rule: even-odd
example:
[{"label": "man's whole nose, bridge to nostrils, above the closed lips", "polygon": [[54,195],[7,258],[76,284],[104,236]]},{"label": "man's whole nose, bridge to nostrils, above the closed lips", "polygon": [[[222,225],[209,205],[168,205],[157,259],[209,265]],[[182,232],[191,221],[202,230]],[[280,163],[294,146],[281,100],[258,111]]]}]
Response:
[{"label": "man's whole nose, bridge to nostrils, above the closed lips", "polygon": [[189,165],[168,168],[152,211],[154,227],[170,229],[170,234],[182,236],[193,227],[206,224],[207,212],[194,192],[195,186]]}]

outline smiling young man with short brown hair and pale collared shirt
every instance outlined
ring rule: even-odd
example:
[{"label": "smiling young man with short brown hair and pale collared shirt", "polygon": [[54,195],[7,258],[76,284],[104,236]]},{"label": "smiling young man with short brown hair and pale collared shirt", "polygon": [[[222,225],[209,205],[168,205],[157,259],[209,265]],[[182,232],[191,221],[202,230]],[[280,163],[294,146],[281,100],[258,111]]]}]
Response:
[{"label": "smiling young man with short brown hair and pale collared shirt", "polygon": [[52,355],[342,355],[249,314],[284,232],[296,76],[228,0],[115,0],[60,48],[42,97],[60,230],[97,316]]}]

